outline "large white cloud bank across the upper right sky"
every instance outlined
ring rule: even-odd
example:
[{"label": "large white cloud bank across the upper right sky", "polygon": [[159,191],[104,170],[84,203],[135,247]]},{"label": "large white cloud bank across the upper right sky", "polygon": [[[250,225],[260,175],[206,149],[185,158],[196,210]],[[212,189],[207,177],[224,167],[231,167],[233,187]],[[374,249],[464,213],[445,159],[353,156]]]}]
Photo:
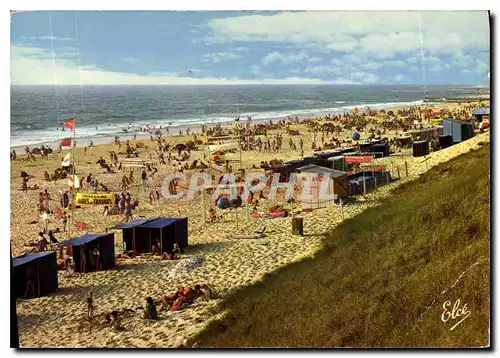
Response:
[{"label": "large white cloud bank across the upper right sky", "polygon": [[487,11],[305,11],[212,19],[211,41],[315,44],[378,58],[489,50]]}]

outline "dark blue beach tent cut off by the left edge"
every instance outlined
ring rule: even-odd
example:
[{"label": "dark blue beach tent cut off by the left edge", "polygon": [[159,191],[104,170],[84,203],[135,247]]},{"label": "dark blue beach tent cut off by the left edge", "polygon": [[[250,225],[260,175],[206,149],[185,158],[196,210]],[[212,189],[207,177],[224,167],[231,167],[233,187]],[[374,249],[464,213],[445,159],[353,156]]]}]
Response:
[{"label": "dark blue beach tent cut off by the left edge", "polygon": [[54,251],[30,252],[12,259],[14,294],[24,297],[28,271],[32,274],[36,297],[57,291],[57,259]]}]

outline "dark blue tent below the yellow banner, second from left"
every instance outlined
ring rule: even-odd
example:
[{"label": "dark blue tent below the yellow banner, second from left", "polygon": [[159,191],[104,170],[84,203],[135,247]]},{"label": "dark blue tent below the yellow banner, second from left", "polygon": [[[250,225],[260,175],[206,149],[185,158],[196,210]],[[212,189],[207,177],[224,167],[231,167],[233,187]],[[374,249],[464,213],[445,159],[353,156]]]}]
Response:
[{"label": "dark blue tent below the yellow banner, second from left", "polygon": [[71,245],[75,272],[96,271],[91,252],[99,250],[99,271],[110,270],[115,267],[115,234],[114,233],[87,233],[63,241],[59,245]]}]

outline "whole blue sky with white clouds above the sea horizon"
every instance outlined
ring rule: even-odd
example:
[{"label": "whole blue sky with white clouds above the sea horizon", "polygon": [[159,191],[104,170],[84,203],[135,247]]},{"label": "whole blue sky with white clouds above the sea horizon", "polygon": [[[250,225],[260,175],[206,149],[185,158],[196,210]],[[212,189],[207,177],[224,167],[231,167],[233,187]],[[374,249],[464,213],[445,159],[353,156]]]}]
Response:
[{"label": "whole blue sky with white clouds above the sea horizon", "polygon": [[36,11],[12,85],[488,83],[486,11]]}]

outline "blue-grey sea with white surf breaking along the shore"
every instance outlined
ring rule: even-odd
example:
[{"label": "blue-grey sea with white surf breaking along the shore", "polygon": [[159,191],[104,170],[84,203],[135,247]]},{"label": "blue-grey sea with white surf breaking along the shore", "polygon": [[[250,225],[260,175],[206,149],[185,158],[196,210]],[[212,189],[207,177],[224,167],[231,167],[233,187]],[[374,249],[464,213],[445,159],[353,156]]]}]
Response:
[{"label": "blue-grey sea with white surf breaking along the shore", "polygon": [[[429,98],[475,96],[478,86],[12,86],[11,147],[58,143],[71,136],[59,125],[76,117],[77,145],[114,136],[144,135],[149,125],[170,134],[236,117],[277,120],[420,105]],[[149,136],[149,134],[146,134]]]}]

